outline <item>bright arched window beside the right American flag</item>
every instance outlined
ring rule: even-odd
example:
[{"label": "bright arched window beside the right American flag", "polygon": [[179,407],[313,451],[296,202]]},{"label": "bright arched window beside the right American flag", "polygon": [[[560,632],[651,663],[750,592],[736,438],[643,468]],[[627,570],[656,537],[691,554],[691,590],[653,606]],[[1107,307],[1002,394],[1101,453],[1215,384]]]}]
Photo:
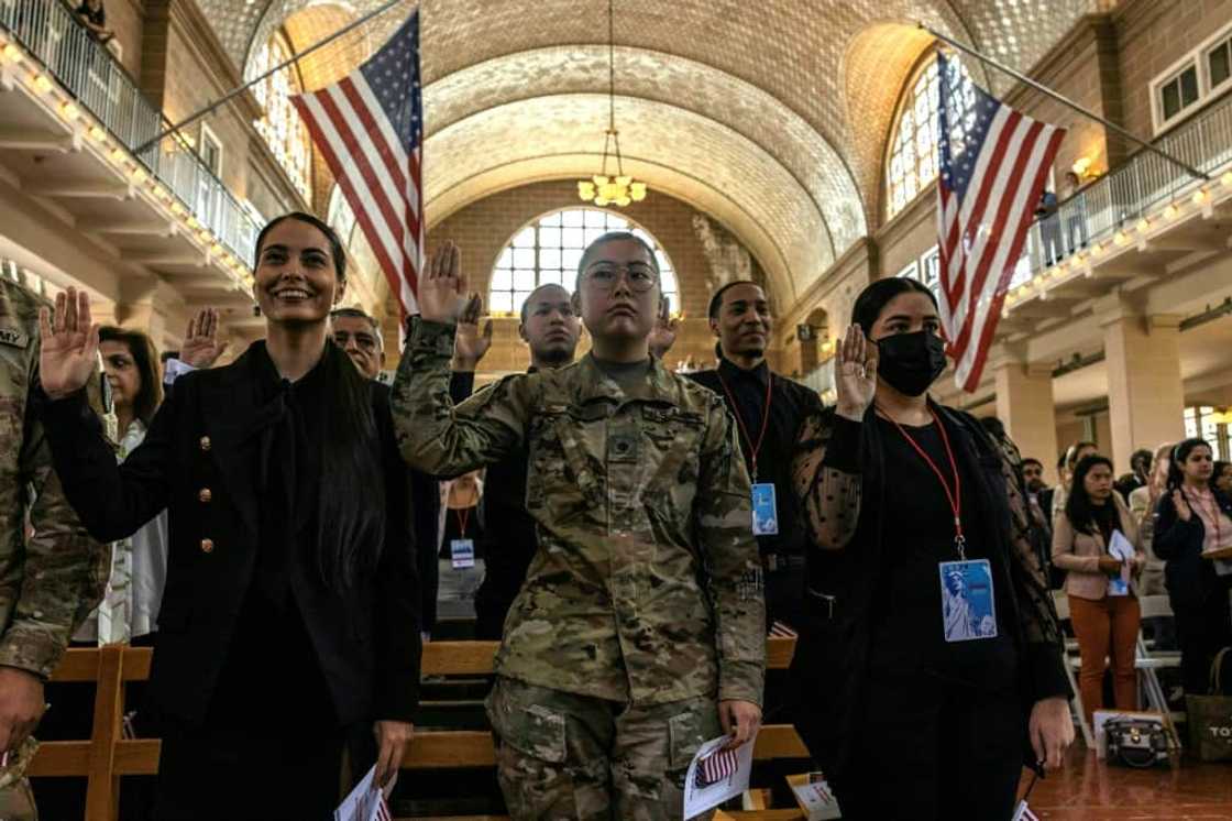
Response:
[{"label": "bright arched window beside the right American flag", "polygon": [[[975,91],[967,69],[957,57],[951,65],[962,78],[963,108],[975,104]],[[898,104],[898,116],[891,129],[890,159],[886,164],[886,218],[893,217],[936,179],[936,108],[940,102],[936,49],[922,58]],[[957,147],[955,147],[957,149]]]}]

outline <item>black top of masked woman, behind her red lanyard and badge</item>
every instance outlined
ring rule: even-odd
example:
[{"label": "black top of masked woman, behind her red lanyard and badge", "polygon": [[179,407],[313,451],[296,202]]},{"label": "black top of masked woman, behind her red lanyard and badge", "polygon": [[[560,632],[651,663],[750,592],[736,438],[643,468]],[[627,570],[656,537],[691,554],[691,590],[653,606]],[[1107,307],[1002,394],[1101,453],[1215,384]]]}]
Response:
[{"label": "black top of masked woman, behind her red lanyard and badge", "polygon": [[[997,637],[947,642],[942,629],[940,562],[958,561],[954,514],[949,497],[928,462],[898,428],[877,417],[885,443],[886,478],[893,488],[893,515],[883,524],[885,588],[873,609],[873,674],[923,676],[934,682],[978,684],[983,690],[1009,689],[1016,674],[1016,652],[1005,623],[1007,590],[994,590]],[[940,468],[954,489],[954,471],[936,423],[904,430]],[[957,457],[956,457],[957,459]],[[960,462],[961,519],[968,560],[988,558],[987,539],[979,531],[976,477]]]}]

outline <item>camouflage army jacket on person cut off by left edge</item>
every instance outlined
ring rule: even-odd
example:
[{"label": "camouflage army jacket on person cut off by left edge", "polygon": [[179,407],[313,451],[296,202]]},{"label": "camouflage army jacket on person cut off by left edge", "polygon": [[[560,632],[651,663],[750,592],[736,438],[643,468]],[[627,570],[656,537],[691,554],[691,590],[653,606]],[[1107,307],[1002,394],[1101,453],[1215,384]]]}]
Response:
[{"label": "camouflage army jacket on person cut off by left edge", "polygon": [[102,595],[107,551],[69,507],[28,412],[42,304],[0,277],[0,664],[46,678]]}]

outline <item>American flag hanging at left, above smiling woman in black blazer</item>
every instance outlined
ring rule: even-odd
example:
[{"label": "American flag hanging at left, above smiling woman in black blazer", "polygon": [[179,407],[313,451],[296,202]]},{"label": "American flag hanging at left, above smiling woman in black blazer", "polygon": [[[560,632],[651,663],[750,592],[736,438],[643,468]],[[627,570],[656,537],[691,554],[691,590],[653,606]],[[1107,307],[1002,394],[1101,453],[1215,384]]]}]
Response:
[{"label": "American flag hanging at left, above smiling woman in black blazer", "polygon": [[402,314],[424,260],[419,11],[345,78],[291,97],[363,228]]}]

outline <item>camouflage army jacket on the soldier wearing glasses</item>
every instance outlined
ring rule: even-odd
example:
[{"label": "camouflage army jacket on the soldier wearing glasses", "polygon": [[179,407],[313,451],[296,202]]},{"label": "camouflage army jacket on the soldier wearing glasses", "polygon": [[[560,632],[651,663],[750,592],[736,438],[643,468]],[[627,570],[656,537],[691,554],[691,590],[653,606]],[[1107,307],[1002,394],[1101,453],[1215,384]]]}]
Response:
[{"label": "camouflage army jacket on the soldier wearing glasses", "polygon": [[722,399],[657,361],[644,391],[628,396],[588,355],[453,407],[452,350],[452,328],[415,322],[393,414],[403,457],[430,473],[529,449],[538,551],[496,672],[639,705],[697,695],[760,704],[761,571]]}]

